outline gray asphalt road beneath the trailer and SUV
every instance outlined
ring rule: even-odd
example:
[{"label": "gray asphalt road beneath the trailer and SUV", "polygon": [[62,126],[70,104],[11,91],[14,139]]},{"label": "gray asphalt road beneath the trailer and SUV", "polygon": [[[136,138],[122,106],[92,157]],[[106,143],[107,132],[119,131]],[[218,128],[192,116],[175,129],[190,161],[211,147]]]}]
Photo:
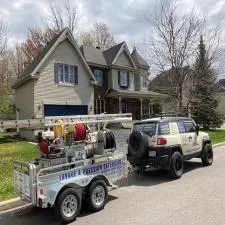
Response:
[{"label": "gray asphalt road beneath the trailer and SUV", "polygon": [[[125,147],[126,133],[119,135]],[[124,139],[123,139],[124,138]],[[124,143],[122,143],[124,140]],[[76,225],[225,224],[225,146],[214,149],[214,164],[185,163],[185,173],[171,180],[163,171],[129,175],[113,190],[105,209],[82,212]],[[1,225],[56,225],[52,211],[29,208],[0,215]]]}]

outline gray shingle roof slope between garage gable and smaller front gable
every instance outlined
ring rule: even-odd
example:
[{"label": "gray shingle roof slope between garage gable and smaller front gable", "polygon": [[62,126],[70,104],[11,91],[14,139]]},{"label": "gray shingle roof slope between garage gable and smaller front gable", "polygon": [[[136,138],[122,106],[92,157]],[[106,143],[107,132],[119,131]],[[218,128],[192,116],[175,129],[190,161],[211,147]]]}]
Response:
[{"label": "gray shingle roof slope between garage gable and smaller front gable", "polygon": [[80,50],[88,63],[107,66],[107,62],[103,56],[103,52],[101,49],[89,46],[82,46]]}]

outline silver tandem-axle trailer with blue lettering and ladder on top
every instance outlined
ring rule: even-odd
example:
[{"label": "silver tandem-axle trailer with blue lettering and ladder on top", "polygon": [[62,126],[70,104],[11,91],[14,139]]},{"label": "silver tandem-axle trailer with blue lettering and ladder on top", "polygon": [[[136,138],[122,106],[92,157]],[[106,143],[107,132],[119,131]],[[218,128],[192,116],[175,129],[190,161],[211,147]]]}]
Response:
[{"label": "silver tandem-axle trailer with blue lettering and ladder on top", "polygon": [[[82,122],[91,128],[85,140],[69,145],[63,140],[57,153],[32,162],[15,161],[16,193],[36,207],[54,207],[62,223],[74,221],[82,205],[90,211],[103,209],[108,187],[128,174],[125,153],[115,145],[106,148],[104,132],[109,131],[106,124],[131,120],[131,114],[45,118],[46,127],[61,125],[66,129],[69,124]],[[49,150],[53,145],[51,142]]]}]

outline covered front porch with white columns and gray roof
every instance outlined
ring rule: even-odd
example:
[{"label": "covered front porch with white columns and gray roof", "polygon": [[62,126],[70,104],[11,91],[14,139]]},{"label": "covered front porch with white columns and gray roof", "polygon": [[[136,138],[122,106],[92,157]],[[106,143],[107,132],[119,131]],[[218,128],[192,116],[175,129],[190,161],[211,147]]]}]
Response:
[{"label": "covered front porch with white columns and gray roof", "polygon": [[155,92],[114,91],[107,94],[107,112],[132,113],[133,120],[164,112],[166,95]]}]

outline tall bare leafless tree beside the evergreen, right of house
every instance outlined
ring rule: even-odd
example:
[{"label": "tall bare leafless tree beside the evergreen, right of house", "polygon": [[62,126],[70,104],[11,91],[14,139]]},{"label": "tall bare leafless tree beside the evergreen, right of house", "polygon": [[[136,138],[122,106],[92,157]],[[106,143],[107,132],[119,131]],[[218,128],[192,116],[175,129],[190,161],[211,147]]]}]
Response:
[{"label": "tall bare leafless tree beside the evergreen, right of house", "polygon": [[148,20],[152,26],[149,51],[154,55],[152,58],[156,68],[170,70],[165,88],[177,100],[178,109],[183,111],[187,99],[185,83],[190,72],[187,68],[194,60],[204,18],[194,9],[181,13],[176,0],[161,0],[155,12],[154,19]]}]

